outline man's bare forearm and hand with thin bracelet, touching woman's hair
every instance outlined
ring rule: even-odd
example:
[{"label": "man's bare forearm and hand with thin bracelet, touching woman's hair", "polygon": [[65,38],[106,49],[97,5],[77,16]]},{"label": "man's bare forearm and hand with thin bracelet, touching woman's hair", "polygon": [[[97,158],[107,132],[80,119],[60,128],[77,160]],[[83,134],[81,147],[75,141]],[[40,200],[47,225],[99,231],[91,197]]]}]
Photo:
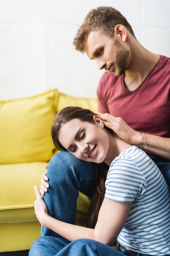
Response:
[{"label": "man's bare forearm and hand with thin bracelet, touching woman's hair", "polygon": [[[144,134],[130,128],[120,117],[112,116],[108,113],[99,114],[104,121],[104,125],[111,128],[122,140],[130,145],[137,145],[145,148]],[[170,160],[170,138],[145,134],[146,150]]]}]

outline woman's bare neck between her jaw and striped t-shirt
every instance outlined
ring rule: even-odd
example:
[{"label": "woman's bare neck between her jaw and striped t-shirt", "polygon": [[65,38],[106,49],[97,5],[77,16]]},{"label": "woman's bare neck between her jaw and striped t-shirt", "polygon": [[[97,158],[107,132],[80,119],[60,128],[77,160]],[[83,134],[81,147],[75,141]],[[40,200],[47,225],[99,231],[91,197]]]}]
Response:
[{"label": "woman's bare neck between her jaw and striped t-shirt", "polygon": [[110,145],[108,149],[108,153],[105,157],[104,163],[106,163],[108,166],[111,165],[112,161],[119,156],[120,153],[122,153],[127,148],[130,148],[132,145],[126,143],[125,141],[119,139],[119,137],[116,137],[115,135],[109,135],[110,137]]}]

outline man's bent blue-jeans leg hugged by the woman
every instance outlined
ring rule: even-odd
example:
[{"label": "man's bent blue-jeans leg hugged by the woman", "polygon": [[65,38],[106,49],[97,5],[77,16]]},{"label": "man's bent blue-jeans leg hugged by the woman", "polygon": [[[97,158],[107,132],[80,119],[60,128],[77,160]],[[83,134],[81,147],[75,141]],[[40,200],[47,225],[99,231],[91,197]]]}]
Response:
[{"label": "man's bent blue-jeans leg hugged by the woman", "polygon": [[[75,224],[79,191],[88,196],[94,193],[94,164],[62,151],[51,158],[47,169],[49,188],[43,199],[48,214],[59,221]],[[46,227],[42,227],[41,236],[61,237]]]}]

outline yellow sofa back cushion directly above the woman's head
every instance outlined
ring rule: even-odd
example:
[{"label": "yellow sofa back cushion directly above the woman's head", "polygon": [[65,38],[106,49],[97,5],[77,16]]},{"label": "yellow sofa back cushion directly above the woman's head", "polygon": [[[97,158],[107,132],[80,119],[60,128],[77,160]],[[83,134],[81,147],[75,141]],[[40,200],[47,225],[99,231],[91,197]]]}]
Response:
[{"label": "yellow sofa back cushion directly above the woman's head", "polygon": [[59,93],[59,99],[57,102],[57,112],[65,107],[81,107],[87,108],[94,113],[98,112],[98,102],[97,99],[87,99],[87,98],[77,98],[68,96],[63,93]]}]

